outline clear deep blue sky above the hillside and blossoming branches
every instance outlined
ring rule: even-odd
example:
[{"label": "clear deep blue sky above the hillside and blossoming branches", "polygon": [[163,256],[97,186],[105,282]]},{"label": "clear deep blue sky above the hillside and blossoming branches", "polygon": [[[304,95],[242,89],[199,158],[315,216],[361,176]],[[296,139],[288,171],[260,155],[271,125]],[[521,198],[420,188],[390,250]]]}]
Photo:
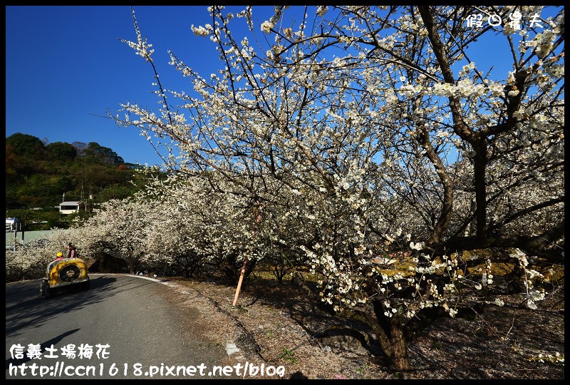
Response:
[{"label": "clear deep blue sky above the hillside and blossoming branches", "polygon": [[[261,8],[254,7],[257,34],[273,7]],[[220,66],[214,44],[190,29],[212,23],[207,6],[135,6],[135,14],[166,88],[191,89],[168,64],[169,49],[206,78]],[[125,162],[160,165],[136,128],[104,118],[120,103],[154,111],[158,106],[150,94],[152,68],[119,38],[136,41],[129,6],[6,6],[6,137],[26,133],[48,143],[97,142]],[[493,80],[504,79],[512,69],[499,58],[501,52],[509,55],[505,39],[486,40],[472,60],[483,72],[493,66]]]}]

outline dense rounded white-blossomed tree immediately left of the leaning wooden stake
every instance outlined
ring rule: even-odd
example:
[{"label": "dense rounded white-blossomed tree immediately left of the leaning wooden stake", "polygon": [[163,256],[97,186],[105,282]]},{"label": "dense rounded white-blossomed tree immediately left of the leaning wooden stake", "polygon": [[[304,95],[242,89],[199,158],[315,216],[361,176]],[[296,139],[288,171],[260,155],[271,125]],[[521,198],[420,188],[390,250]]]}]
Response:
[{"label": "dense rounded white-blossomed tree immediately left of the leaning wooden stake", "polygon": [[231,278],[234,262],[251,255],[247,215],[240,210],[245,203],[238,195],[219,194],[202,177],[172,173],[153,180],[138,197],[161,207],[160,220],[150,222],[147,253],[155,260],[167,258],[185,275],[208,266],[224,270],[229,263]]}]

